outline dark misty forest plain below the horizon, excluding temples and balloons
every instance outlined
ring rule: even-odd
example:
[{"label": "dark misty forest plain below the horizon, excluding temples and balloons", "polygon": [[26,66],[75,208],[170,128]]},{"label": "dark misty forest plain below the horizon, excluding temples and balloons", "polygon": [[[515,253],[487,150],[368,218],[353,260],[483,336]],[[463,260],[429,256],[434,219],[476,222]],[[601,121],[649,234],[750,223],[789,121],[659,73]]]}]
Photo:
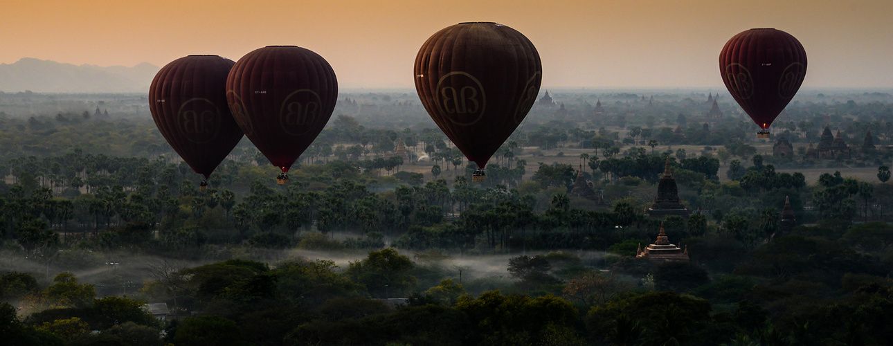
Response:
[{"label": "dark misty forest plain below the horizon, excluding temples and balloons", "polygon": [[[708,117],[695,92],[555,92],[483,183],[413,94],[348,94],[291,184],[243,139],[201,190],[145,96],[0,93],[0,335],[885,344],[893,96],[827,94],[798,96],[766,140],[728,95]],[[826,126],[846,154],[809,156]],[[667,166],[688,217],[643,213]],[[661,229],[690,261],[636,258]]]}]

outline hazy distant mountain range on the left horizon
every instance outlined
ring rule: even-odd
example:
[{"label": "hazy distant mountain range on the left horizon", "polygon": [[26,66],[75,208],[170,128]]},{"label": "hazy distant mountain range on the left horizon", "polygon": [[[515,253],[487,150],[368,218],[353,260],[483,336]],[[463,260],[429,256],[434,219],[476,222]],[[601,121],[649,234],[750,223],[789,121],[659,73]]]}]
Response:
[{"label": "hazy distant mountain range on the left horizon", "polygon": [[34,58],[0,64],[0,91],[17,93],[148,93],[161,68],[143,62],[134,67],[72,65]]}]

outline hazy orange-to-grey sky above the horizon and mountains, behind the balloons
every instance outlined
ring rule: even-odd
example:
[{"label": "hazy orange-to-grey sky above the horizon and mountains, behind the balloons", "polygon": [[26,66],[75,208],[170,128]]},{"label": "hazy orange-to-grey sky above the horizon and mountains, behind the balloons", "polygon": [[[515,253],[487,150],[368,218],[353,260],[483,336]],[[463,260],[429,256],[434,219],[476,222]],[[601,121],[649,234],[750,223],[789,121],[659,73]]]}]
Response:
[{"label": "hazy orange-to-grey sky above the horizon and mountains, behind the balloons", "polygon": [[413,87],[431,34],[496,21],[537,46],[544,87],[719,89],[722,45],[775,28],[805,47],[804,87],[893,87],[890,0],[3,0],[0,13],[0,63],[163,66],[300,45],[326,58],[342,87]]}]

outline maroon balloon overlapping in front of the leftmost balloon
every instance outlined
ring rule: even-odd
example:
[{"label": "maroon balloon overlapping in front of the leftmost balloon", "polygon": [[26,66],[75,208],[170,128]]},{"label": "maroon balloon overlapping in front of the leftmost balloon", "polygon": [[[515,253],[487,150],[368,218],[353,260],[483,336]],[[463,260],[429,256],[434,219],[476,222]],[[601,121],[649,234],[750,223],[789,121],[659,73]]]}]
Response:
[{"label": "maroon balloon overlapping in front of the leftmost balloon", "polygon": [[238,126],[270,162],[288,169],[326,126],[338,101],[338,80],[320,54],[271,45],[246,54],[227,78],[227,101]]}]

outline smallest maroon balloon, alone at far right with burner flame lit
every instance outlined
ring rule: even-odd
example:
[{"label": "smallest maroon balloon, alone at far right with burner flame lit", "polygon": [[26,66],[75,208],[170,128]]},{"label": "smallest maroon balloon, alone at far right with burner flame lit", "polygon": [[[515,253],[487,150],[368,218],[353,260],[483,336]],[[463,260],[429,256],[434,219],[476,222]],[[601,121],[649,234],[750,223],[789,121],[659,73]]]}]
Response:
[{"label": "smallest maroon balloon, alone at far right with burner flame lit", "polygon": [[806,75],[806,52],[789,33],[749,29],[731,37],[720,52],[722,82],[741,108],[769,136],[769,126],[797,94]]}]

